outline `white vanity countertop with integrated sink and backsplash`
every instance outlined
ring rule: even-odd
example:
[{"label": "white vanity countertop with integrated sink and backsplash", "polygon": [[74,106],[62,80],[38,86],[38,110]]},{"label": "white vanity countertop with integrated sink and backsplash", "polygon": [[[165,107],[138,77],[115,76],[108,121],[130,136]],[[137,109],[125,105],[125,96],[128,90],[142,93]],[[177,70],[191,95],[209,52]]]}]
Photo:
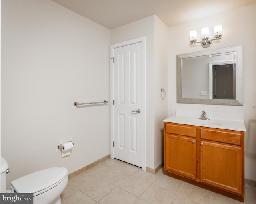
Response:
[{"label": "white vanity countertop with integrated sink and backsplash", "polygon": [[201,111],[176,110],[175,116],[166,118],[164,122],[178,123],[192,126],[203,126],[209,128],[230,129],[245,132],[244,114],[228,114],[218,112],[207,112],[207,120],[198,120]]}]

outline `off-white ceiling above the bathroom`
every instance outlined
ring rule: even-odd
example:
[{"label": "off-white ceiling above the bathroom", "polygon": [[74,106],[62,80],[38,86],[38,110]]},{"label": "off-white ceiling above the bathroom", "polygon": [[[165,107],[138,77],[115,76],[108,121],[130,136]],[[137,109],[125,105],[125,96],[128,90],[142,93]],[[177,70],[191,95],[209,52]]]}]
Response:
[{"label": "off-white ceiling above the bathroom", "polygon": [[[52,0],[108,29],[155,14],[166,26],[213,16],[256,0]],[[239,15],[239,14],[238,14]]]}]

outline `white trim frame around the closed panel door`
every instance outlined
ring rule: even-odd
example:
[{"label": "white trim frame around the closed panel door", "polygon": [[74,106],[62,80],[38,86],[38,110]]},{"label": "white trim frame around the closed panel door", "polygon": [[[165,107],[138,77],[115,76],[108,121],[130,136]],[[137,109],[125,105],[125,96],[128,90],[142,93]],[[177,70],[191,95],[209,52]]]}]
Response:
[{"label": "white trim frame around the closed panel door", "polygon": [[[114,57],[114,49],[142,43],[142,170],[146,171],[146,37],[140,37],[110,45],[110,57]],[[110,61],[110,158],[114,159],[114,63]]]}]

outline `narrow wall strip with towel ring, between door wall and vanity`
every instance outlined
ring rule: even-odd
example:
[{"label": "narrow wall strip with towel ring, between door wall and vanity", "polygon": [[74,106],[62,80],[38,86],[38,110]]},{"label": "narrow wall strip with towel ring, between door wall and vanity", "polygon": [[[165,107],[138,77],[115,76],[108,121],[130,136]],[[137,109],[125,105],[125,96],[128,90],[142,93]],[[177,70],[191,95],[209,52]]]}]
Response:
[{"label": "narrow wall strip with towel ring, between door wall and vanity", "polygon": [[[167,118],[168,105],[168,27],[155,16],[155,160],[154,168],[164,161],[164,122]],[[161,99],[161,88],[166,91],[166,97]],[[153,98],[151,99],[153,100]]]}]

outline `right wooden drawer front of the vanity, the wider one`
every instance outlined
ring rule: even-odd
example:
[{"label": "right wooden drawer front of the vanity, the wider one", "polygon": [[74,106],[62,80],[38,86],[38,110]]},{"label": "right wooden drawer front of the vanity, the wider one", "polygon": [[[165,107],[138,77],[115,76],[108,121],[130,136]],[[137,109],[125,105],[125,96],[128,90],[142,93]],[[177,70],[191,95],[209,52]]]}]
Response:
[{"label": "right wooden drawer front of the vanity, the wider one", "polygon": [[222,143],[241,145],[242,134],[236,131],[223,131],[218,129],[201,128],[201,139],[209,139]]}]

